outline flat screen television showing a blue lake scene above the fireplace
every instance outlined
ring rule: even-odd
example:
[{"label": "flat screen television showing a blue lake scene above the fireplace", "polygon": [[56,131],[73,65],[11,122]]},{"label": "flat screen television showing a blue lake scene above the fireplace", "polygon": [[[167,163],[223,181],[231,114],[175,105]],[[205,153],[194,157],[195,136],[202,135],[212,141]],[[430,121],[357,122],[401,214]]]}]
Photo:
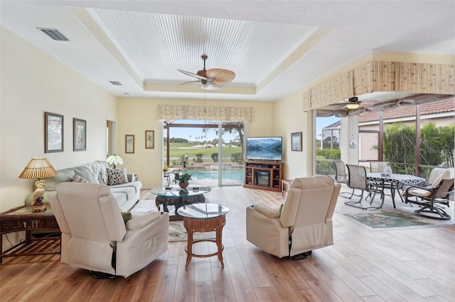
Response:
[{"label": "flat screen television showing a blue lake scene above the fireplace", "polygon": [[247,138],[247,160],[283,160],[283,138],[269,136],[263,138]]}]

